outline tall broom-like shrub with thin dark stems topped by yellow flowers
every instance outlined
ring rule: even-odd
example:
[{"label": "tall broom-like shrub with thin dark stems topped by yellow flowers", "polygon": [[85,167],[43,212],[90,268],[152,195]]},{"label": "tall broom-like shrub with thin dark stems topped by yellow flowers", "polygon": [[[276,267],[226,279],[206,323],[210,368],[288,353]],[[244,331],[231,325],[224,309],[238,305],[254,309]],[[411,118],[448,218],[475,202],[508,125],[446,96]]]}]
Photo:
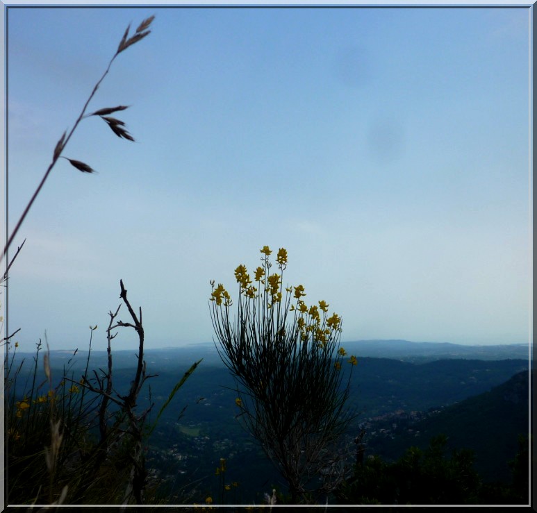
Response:
[{"label": "tall broom-like shrub with thin dark stems topped by yellow flowers", "polygon": [[253,280],[244,264],[235,269],[236,305],[222,283],[211,281],[210,314],[220,358],[236,379],[238,417],[296,501],[306,491],[333,489],[340,478],[334,446],[352,418],[344,406],[357,361],[347,360],[343,383],[340,317],[329,314],[326,301],[307,305],[303,285],[283,287],[286,249],[276,255],[277,272],[272,250],[263,246],[261,253]]}]

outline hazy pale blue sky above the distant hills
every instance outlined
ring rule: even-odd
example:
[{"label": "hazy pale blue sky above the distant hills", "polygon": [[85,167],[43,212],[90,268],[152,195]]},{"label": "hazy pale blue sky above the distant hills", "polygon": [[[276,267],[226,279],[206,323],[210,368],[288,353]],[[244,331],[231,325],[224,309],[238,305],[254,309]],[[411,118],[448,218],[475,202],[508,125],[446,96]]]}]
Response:
[{"label": "hazy pale blue sky above the distant hills", "polygon": [[120,279],[146,348],[211,342],[210,280],[265,244],[342,342],[531,340],[527,8],[9,8],[10,230],[150,15],[88,106],[135,142],[83,119],[97,173],[60,159],[10,250],[19,350],[106,348]]}]

